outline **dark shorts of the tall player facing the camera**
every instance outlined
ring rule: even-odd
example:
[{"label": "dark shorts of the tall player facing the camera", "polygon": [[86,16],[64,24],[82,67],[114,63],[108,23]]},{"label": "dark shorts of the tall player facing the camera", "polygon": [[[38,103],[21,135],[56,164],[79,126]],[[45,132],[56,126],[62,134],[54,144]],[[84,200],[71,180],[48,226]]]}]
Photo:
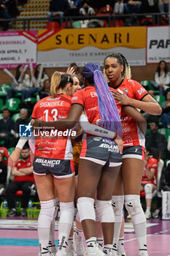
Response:
[{"label": "dark shorts of the tall player facing the camera", "polygon": [[122,158],[136,158],[144,161],[144,147],[143,146],[131,146],[123,148]]}]

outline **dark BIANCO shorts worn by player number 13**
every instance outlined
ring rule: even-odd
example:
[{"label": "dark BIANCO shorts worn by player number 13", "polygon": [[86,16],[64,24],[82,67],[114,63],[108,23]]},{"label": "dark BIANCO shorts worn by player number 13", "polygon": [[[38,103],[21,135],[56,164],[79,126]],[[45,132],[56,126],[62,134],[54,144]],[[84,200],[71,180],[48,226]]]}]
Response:
[{"label": "dark BIANCO shorts worn by player number 13", "polygon": [[73,160],[35,157],[33,162],[36,175],[52,174],[55,178],[69,178],[74,175]]}]

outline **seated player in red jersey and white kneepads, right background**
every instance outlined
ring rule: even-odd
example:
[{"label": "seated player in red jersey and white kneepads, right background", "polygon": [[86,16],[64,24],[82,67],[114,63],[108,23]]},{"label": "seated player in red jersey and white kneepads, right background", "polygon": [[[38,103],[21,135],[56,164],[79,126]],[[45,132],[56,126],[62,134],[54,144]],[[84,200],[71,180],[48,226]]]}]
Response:
[{"label": "seated player in red jersey and white kneepads, right background", "polygon": [[150,157],[150,148],[146,148],[145,151],[145,165],[142,173],[142,185],[141,192],[145,192],[146,199],[146,219],[151,218],[151,203],[152,203],[152,194],[156,190],[156,175],[158,171],[158,160]]}]

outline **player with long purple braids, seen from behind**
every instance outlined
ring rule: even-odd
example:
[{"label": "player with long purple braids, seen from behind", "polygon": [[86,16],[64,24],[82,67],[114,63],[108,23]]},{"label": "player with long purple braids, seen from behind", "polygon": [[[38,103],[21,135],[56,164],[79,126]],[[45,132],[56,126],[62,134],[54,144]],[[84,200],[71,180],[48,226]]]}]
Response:
[{"label": "player with long purple braids, seen from behind", "polygon": [[[120,134],[121,125],[117,108],[115,107],[115,102],[112,101],[112,94],[107,89],[107,83],[100,68],[96,64],[87,64],[83,68],[82,73],[85,76],[86,87],[74,94],[68,118],[64,121],[58,120],[52,123],[36,121],[35,125],[42,127],[54,125],[57,129],[72,128],[80,118],[82,110],[85,109],[90,123],[96,124],[96,122],[98,123],[101,120],[101,126],[104,125],[108,129],[115,130]],[[104,120],[107,121],[104,122]],[[116,141],[120,145],[121,150],[120,138]],[[90,135],[82,143],[77,207],[88,245],[88,255],[102,255],[102,252],[96,246],[94,228],[95,212],[93,198],[96,189],[98,191],[96,208],[103,227],[104,252],[107,254],[112,253],[114,229],[112,224],[115,219],[110,199],[121,163],[119,150],[116,148],[117,146],[114,141],[110,145],[104,138],[95,138]],[[117,252],[113,253],[117,255]]]}]

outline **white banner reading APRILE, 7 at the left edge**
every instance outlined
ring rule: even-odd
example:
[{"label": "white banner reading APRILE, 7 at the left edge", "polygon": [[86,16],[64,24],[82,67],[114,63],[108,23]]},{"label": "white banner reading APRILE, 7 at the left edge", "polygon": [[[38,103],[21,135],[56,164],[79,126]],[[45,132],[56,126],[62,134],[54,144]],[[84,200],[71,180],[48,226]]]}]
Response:
[{"label": "white banner reading APRILE, 7 at the left edge", "polygon": [[0,69],[36,64],[36,31],[0,32]]}]

